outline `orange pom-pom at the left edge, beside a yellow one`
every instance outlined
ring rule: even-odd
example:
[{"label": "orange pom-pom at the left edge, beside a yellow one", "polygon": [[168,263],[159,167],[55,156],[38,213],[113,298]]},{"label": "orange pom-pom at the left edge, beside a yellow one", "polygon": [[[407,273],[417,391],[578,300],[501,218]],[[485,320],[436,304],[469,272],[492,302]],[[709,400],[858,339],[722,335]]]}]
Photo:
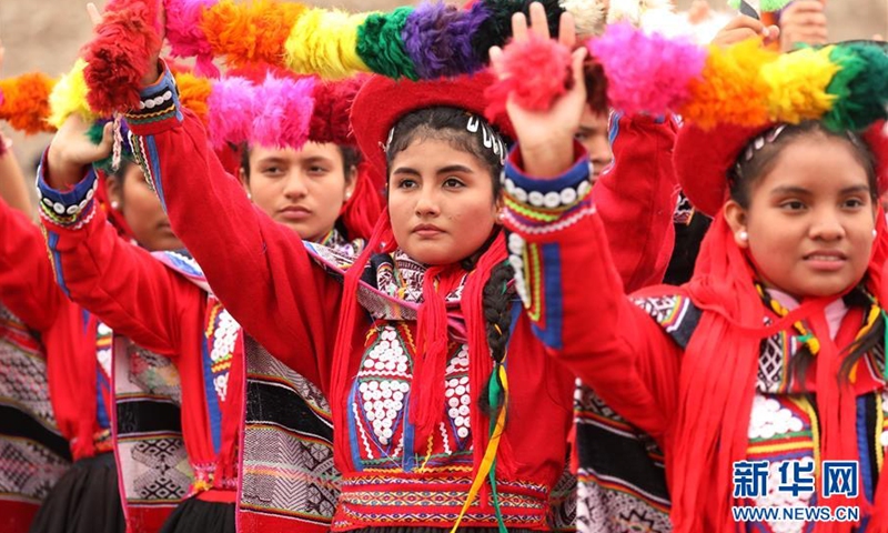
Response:
[{"label": "orange pom-pom at the left edge, beside a yellow one", "polygon": [[0,92],[3,93],[0,119],[28,134],[56,131],[47,122],[49,94],[56,80],[40,72],[0,81]]}]

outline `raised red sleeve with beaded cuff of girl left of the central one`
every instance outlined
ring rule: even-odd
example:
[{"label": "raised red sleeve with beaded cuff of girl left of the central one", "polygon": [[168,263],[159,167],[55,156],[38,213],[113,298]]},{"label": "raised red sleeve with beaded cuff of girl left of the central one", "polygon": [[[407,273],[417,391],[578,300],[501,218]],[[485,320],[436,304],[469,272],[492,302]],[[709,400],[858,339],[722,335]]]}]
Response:
[{"label": "raised red sleeve with beaded cuff of girl left of the central one", "polygon": [[[41,222],[65,294],[137,344],[169,356],[181,354],[181,325],[199,320],[201,289],[119,237],[91,195],[77,202],[64,198],[69,192],[51,189],[43,171],[41,167],[41,199],[64,208],[59,209],[64,218],[50,218],[41,209]],[[90,171],[72,193],[93,190],[95,181]]]}]

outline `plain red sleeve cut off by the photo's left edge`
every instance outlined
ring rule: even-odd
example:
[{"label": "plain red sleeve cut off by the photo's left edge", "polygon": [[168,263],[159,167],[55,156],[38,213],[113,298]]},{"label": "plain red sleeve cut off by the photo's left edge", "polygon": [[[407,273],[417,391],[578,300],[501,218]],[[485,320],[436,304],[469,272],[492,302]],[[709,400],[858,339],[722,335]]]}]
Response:
[{"label": "plain red sleeve cut off by the photo's left edge", "polygon": [[40,228],[0,199],[0,300],[38,331],[56,321],[64,295],[56,284]]}]

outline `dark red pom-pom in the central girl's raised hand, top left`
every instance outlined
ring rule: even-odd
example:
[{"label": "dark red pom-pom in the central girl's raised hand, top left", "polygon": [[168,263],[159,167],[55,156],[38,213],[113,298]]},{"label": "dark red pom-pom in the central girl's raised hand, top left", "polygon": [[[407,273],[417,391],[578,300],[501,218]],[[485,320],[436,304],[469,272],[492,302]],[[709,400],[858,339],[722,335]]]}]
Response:
[{"label": "dark red pom-pom in the central girl's raised hand, top left", "polygon": [[139,90],[149,61],[160,50],[155,29],[157,0],[112,2],[97,37],[83,49],[87,101],[99,114],[139,105]]}]

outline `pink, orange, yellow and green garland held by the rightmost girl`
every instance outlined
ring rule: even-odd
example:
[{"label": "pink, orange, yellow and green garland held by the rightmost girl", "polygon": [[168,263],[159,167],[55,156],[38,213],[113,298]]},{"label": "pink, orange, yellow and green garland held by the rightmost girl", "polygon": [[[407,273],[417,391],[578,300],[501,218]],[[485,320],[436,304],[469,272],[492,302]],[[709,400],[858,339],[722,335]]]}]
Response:
[{"label": "pink, orange, yellow and green garland held by the rightmost girl", "polygon": [[[563,91],[526,76],[526,63],[543,53],[558,62],[545,67],[549,72],[569,66],[569,56],[543,47],[561,44],[531,40],[505,48],[504,79],[488,91],[501,99],[493,109],[509,93],[536,91],[538,101],[552,101]],[[625,112],[677,113],[702,128],[810,119],[858,131],[888,118],[888,54],[878,46],[839,43],[788,54],[757,40],[700,48],[619,23],[587,47],[604,69],[608,105]]]}]

